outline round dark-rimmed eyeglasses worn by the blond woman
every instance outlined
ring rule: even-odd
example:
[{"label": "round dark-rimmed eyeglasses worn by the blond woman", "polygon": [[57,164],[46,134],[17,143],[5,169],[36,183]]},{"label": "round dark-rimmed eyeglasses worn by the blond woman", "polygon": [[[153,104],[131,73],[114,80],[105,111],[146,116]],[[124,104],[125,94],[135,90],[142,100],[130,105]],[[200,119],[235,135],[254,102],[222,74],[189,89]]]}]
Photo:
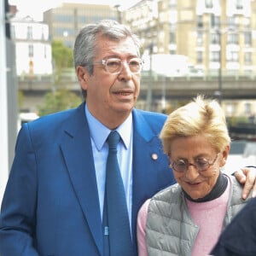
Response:
[{"label": "round dark-rimmed eyeglasses worn by the blond woman", "polygon": [[207,160],[205,158],[198,158],[195,160],[194,164],[191,164],[189,163],[188,160],[180,159],[180,160],[170,162],[169,166],[176,172],[187,172],[189,169],[189,166],[194,166],[195,169],[199,172],[206,172],[210,166],[214,165],[215,161],[218,158],[218,154],[216,155],[215,159],[212,161]]}]

